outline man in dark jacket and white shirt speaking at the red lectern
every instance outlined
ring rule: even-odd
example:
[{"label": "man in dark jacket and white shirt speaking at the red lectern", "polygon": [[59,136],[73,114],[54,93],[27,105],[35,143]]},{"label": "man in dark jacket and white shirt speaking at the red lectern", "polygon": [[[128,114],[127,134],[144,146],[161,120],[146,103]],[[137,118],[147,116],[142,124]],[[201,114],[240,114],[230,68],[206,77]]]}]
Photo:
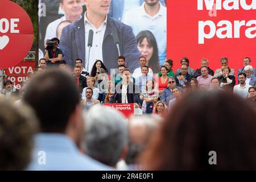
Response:
[{"label": "man in dark jacket and white shirt speaking at the red lectern", "polygon": [[115,86],[115,95],[111,103],[135,103],[135,108],[139,106],[139,88],[134,82],[131,82],[131,72],[129,69],[122,71],[122,82]]}]

